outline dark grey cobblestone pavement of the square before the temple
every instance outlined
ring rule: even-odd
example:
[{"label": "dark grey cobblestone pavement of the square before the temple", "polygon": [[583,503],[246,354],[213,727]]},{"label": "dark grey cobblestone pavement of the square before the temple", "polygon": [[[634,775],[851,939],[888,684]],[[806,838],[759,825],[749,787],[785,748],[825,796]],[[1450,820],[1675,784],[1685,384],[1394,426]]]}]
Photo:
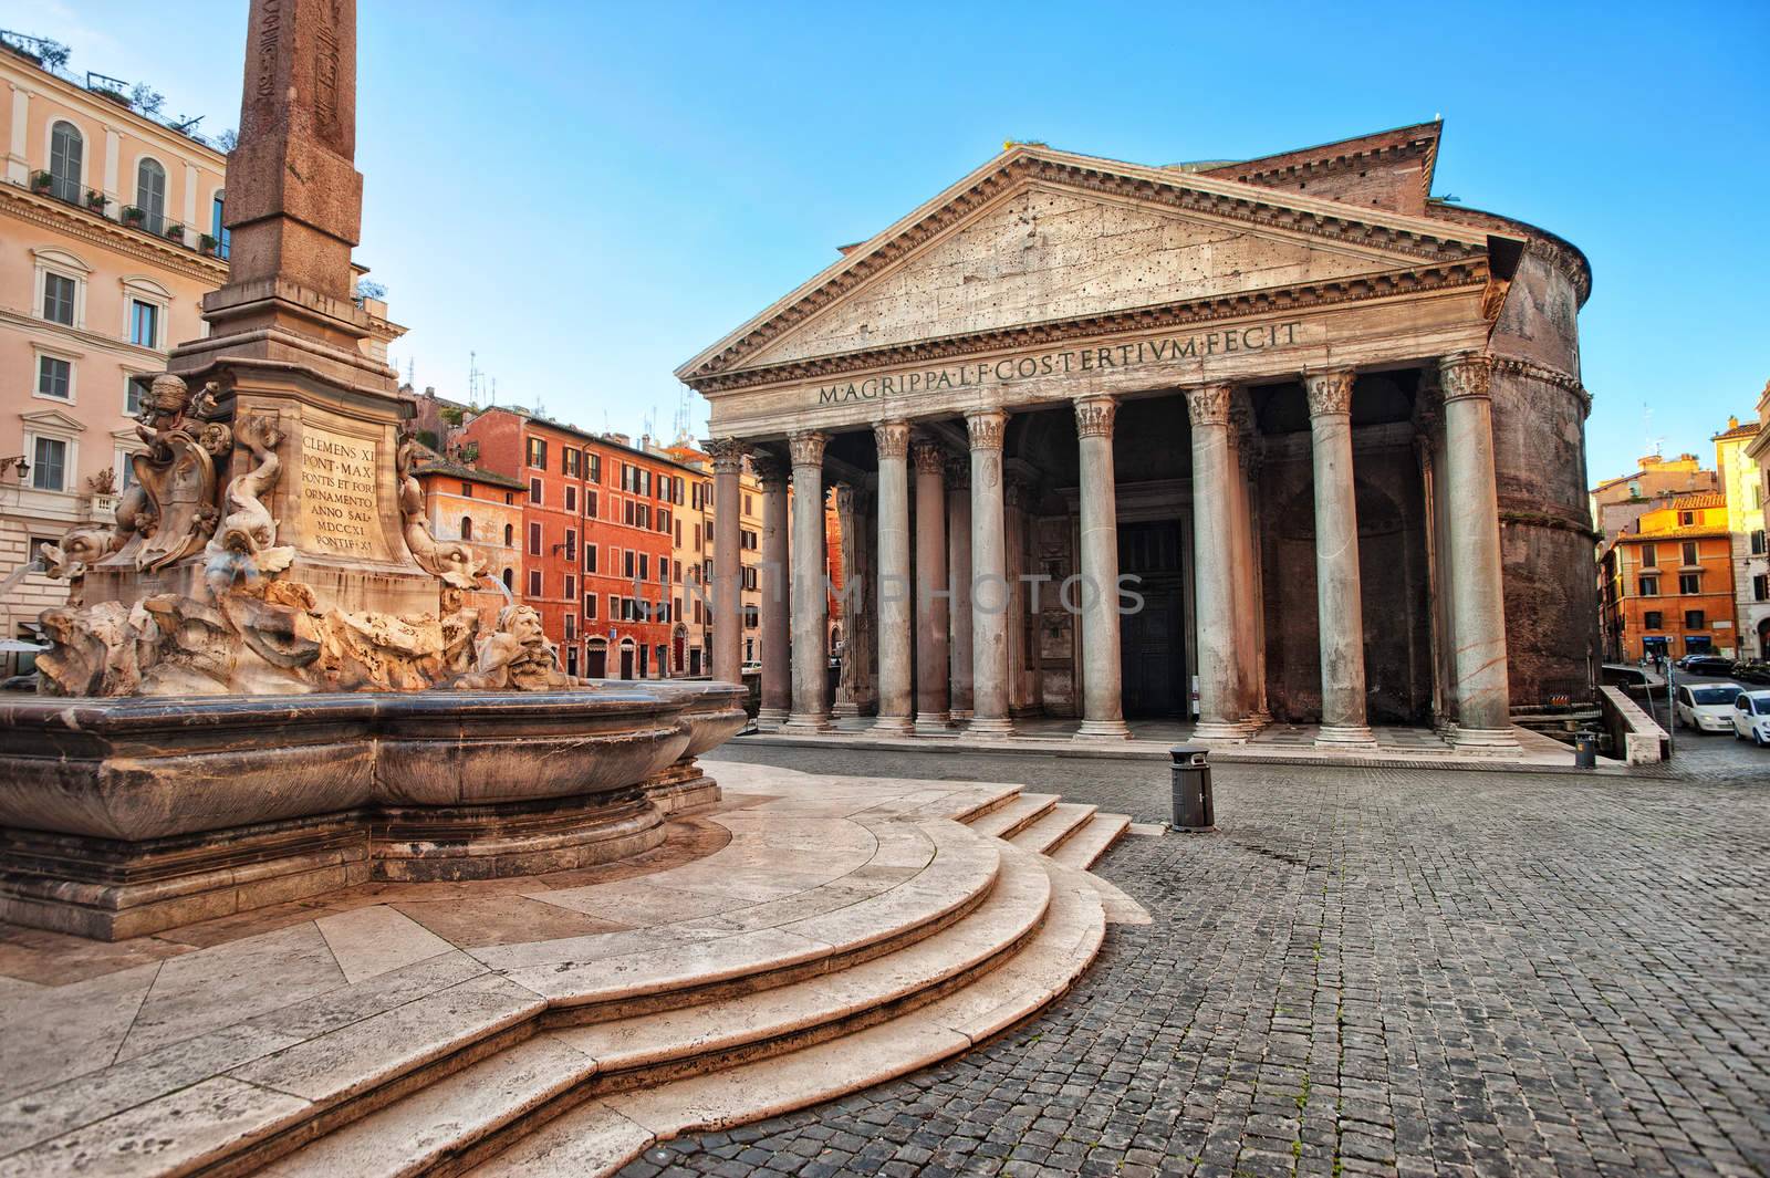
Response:
[{"label": "dark grey cobblestone pavement of the square before the temple", "polygon": [[[1770,755],[1689,745],[1662,780],[1221,766],[1218,833],[1096,868],[1156,923],[1043,1017],[627,1173],[1770,1173]],[[722,755],[1166,808],[1149,762]]]}]

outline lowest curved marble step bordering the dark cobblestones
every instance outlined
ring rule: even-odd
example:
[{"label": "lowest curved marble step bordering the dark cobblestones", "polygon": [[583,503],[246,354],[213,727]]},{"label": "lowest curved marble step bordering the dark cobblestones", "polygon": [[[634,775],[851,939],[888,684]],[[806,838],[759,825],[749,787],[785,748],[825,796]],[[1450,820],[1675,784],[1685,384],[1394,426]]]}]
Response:
[{"label": "lowest curved marble step bordering the dark cobblestones", "polygon": [[655,1143],[832,1100],[940,1063],[1025,1021],[1074,985],[1106,930],[1097,893],[1069,868],[1048,863],[1046,870],[1055,890],[1039,934],[1007,964],[956,994],[784,1056],[593,1097],[466,1173],[611,1174]]}]

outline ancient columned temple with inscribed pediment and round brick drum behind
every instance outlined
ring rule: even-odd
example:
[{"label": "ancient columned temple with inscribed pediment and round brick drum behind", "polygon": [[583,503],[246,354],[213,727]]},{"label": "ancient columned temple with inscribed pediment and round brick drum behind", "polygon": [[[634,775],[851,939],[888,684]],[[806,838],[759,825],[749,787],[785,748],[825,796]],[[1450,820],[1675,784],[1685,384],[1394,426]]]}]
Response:
[{"label": "ancient columned temple with inscribed pediment and round brick drum behind", "polygon": [[[765,718],[1504,750],[1588,702],[1589,265],[1434,200],[1439,136],[1174,166],[1014,143],[683,364],[715,527],[745,462],[763,485]],[[738,639],[715,617],[715,677]]]}]

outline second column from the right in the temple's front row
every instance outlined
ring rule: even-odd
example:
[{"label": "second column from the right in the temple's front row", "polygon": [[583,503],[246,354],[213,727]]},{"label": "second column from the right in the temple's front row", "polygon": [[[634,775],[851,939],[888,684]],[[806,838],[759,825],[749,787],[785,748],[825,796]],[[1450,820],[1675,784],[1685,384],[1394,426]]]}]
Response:
[{"label": "second column from the right in the temple's front row", "polygon": [[1315,628],[1322,646],[1317,745],[1372,745],[1365,718],[1365,601],[1358,584],[1352,488],[1352,373],[1308,379],[1315,458]]}]

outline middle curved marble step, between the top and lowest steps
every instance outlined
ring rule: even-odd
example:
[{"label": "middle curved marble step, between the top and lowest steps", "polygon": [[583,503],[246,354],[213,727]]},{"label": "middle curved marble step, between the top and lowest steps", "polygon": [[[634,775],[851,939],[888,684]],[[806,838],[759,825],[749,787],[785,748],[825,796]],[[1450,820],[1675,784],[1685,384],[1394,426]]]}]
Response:
[{"label": "middle curved marble step, between the top and lowest steps", "polygon": [[[715,1001],[588,1026],[543,1029],[404,1100],[379,1109],[262,1173],[278,1178],[358,1174],[404,1178],[437,1173],[483,1153],[497,1134],[542,1123],[554,1102],[628,1091],[689,1070],[715,1070],[846,1040],[954,987],[975,987],[993,968],[1020,964],[1041,932],[1057,888],[1050,865],[1007,849],[989,899],[959,923],[828,976]],[[1002,966],[1007,962],[1007,966]],[[573,1090],[577,1090],[573,1093]],[[573,1093],[566,1098],[566,1093]],[[513,1128],[517,1127],[517,1128]]]}]

